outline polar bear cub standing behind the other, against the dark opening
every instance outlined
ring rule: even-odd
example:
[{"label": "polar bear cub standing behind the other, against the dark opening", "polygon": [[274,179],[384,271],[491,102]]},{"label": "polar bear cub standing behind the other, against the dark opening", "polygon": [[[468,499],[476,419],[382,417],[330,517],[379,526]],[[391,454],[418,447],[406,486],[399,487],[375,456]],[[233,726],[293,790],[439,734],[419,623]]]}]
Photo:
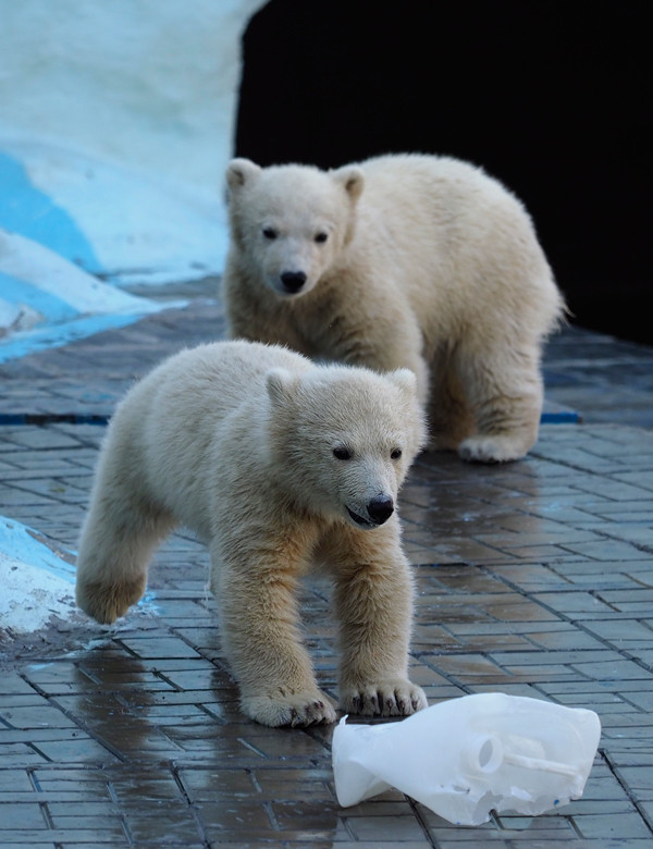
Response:
[{"label": "polar bear cub standing behind the other, against the dark opening", "polygon": [[521,204],[455,159],[226,172],[232,337],[418,377],[433,447],[523,456],[563,299]]}]

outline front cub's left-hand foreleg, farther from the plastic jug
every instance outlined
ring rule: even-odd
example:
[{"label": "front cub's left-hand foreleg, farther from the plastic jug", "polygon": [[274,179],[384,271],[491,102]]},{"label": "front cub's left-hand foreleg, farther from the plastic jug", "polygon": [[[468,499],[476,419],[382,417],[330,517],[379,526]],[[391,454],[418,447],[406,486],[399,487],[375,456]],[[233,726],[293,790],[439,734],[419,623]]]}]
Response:
[{"label": "front cub's left-hand foreleg, farther from the plastic jug", "polygon": [[291,546],[279,540],[258,542],[256,549],[246,540],[230,544],[229,556],[212,546],[211,586],[243,712],[273,727],[335,722],[299,635],[300,558],[288,555]]}]

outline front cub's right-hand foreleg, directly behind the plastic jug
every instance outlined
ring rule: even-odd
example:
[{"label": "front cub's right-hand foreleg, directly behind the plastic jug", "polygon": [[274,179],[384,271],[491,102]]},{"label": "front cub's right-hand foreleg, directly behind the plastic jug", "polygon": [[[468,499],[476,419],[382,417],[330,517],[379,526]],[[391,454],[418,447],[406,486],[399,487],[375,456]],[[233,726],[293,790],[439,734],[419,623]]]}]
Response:
[{"label": "front cub's right-hand foreleg, directly behind the plastic jug", "polygon": [[412,581],[398,520],[368,531],[338,528],[329,556],[341,623],[341,706],[381,716],[426,707],[423,690],[408,679]]}]

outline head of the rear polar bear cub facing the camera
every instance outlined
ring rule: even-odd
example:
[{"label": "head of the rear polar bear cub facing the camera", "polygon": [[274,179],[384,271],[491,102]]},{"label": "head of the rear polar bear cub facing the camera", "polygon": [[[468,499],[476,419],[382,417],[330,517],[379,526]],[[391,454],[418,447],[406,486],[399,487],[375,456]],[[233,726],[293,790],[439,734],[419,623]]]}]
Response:
[{"label": "head of the rear polar bear cub facing the camera", "polygon": [[355,165],[226,169],[232,249],[283,297],[310,292],[352,238],[364,176]]}]

